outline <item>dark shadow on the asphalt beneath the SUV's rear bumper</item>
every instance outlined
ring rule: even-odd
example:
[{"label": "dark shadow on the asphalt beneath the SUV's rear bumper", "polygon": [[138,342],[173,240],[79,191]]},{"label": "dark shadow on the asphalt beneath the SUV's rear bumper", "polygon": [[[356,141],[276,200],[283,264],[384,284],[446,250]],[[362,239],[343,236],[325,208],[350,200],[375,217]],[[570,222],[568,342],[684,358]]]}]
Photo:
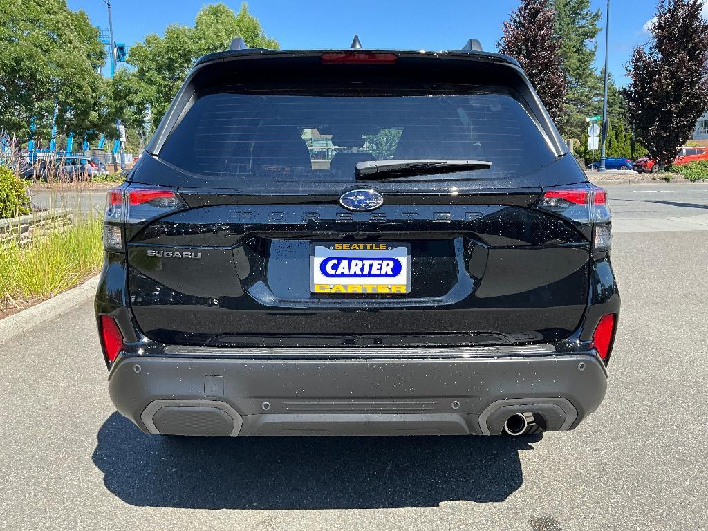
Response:
[{"label": "dark shadow on the asphalt beneath the SUV's rear bumper", "polygon": [[196,438],[146,435],[119,413],[93,462],[133,506],[234,509],[432,507],[503,501],[527,438],[482,436]]}]

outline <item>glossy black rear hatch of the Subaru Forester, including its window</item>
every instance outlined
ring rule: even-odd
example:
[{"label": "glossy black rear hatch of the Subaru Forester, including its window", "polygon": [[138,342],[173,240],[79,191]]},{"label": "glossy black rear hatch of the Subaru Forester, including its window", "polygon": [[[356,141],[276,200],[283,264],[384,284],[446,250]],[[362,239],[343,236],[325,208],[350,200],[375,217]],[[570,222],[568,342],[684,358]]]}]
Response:
[{"label": "glossy black rear hatch of the Subaru Forester, including its window", "polygon": [[585,181],[513,64],[207,61],[122,190],[130,304],[171,344],[557,341],[586,309],[591,225],[539,200]]}]

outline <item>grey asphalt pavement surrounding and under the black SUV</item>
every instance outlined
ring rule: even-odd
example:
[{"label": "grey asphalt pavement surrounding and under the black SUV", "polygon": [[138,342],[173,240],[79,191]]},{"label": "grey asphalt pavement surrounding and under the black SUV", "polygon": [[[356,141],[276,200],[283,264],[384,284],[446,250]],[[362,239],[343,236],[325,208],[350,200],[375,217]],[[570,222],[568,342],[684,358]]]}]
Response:
[{"label": "grey asphalt pavement surrounding and under the black SUV", "polygon": [[708,185],[609,189],[622,314],[577,430],[144,435],[108,399],[86,302],[0,344],[0,529],[708,529]]}]

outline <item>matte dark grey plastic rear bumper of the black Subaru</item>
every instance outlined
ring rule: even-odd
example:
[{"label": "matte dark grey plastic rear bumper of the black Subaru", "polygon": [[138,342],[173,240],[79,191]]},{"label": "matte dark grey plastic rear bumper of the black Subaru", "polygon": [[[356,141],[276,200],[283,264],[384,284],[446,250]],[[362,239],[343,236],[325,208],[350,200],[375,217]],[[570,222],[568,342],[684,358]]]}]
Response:
[{"label": "matte dark grey plastic rear bumper of the black Subaru", "polygon": [[575,428],[607,389],[592,352],[490,358],[459,349],[426,358],[421,349],[396,349],[395,357],[366,349],[365,357],[325,359],[294,349],[249,357],[193,350],[120,358],[109,378],[118,411],[147,433],[496,435],[525,411],[547,430]]}]

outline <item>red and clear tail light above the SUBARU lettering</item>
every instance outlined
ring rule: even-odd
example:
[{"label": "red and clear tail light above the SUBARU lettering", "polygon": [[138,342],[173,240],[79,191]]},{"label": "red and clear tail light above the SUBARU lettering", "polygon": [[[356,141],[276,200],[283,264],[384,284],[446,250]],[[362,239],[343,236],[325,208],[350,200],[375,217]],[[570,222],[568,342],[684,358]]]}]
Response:
[{"label": "red and clear tail light above the SUBARU lettering", "polygon": [[177,193],[169,188],[128,186],[108,190],[103,217],[103,246],[108,251],[124,251],[123,224],[144,222],[184,207]]}]

